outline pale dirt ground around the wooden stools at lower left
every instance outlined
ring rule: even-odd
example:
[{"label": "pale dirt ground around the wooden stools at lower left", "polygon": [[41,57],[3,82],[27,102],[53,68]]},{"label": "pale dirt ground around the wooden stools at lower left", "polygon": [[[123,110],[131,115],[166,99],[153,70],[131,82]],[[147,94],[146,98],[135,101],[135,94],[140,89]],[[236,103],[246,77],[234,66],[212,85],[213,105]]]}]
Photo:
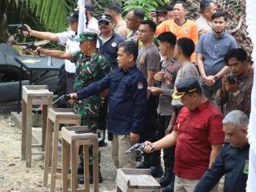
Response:
[{"label": "pale dirt ground around the wooden stools at lower left", "polygon": [[[10,115],[0,114],[0,191],[1,192],[45,192],[50,186],[42,186],[43,160],[33,156],[32,168],[21,161],[22,131],[10,120]],[[116,170],[110,157],[110,145],[101,147],[102,192],[114,190]],[[62,191],[58,181],[56,191]]]}]

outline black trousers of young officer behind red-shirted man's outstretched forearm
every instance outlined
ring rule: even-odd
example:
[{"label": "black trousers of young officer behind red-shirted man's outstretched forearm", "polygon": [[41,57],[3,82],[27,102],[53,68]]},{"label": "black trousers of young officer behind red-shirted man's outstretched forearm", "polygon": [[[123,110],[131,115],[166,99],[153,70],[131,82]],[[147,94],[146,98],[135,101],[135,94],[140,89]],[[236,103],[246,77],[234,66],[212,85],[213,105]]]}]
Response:
[{"label": "black trousers of young officer behind red-shirted man's outstretched forearm", "polygon": [[[166,135],[166,128],[169,125],[171,116],[158,116],[159,139]],[[174,167],[175,147],[166,148],[163,150],[163,161],[166,168],[173,170]]]}]

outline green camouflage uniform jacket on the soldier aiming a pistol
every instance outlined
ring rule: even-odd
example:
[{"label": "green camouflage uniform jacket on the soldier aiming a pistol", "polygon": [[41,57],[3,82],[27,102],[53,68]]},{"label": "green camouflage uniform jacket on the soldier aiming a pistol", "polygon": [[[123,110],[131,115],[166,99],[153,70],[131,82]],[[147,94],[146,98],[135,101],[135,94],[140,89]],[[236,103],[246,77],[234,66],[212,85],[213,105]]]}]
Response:
[{"label": "green camouflage uniform jacket on the soldier aiming a pistol", "polygon": [[[74,91],[85,88],[88,84],[102,79],[110,72],[110,63],[100,53],[86,57],[81,51],[72,54],[76,65]],[[99,94],[87,97],[74,104],[74,112],[82,116],[82,125],[96,127],[99,107],[102,104]]]}]

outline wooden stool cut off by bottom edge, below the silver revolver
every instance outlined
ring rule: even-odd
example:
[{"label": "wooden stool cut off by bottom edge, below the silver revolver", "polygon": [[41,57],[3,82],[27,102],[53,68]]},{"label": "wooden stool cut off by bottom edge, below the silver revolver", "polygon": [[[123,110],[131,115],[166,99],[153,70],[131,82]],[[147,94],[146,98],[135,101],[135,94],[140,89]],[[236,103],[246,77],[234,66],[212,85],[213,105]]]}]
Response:
[{"label": "wooden stool cut off by bottom edge, below the silver revolver", "polygon": [[118,169],[117,192],[160,192],[160,184],[149,169]]}]

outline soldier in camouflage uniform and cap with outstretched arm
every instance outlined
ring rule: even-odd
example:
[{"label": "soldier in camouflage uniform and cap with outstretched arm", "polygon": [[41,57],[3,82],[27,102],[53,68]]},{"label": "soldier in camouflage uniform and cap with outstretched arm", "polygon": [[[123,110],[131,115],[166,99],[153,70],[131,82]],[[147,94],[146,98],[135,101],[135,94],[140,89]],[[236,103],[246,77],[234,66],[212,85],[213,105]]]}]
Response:
[{"label": "soldier in camouflage uniform and cap with outstretched arm", "polygon": [[[43,53],[51,57],[57,57],[73,61],[76,65],[74,91],[85,88],[88,84],[102,79],[110,72],[110,64],[102,54],[97,52],[97,34],[92,32],[81,33],[76,41],[80,42],[80,51],[75,53],[65,53],[58,50],[47,50],[39,48],[38,53]],[[81,115],[82,125],[87,125],[91,131],[96,131],[98,127],[99,107],[102,104],[99,94],[80,100],[74,104],[74,112]],[[82,161],[81,161],[82,163]],[[90,167],[92,166],[92,153],[90,152]],[[83,169],[78,169],[78,173]],[[92,169],[90,169],[92,173]],[[91,175],[90,178],[92,179]],[[82,182],[83,179],[79,179]],[[102,180],[100,176],[100,180]],[[92,180],[90,180],[92,182]]]}]

